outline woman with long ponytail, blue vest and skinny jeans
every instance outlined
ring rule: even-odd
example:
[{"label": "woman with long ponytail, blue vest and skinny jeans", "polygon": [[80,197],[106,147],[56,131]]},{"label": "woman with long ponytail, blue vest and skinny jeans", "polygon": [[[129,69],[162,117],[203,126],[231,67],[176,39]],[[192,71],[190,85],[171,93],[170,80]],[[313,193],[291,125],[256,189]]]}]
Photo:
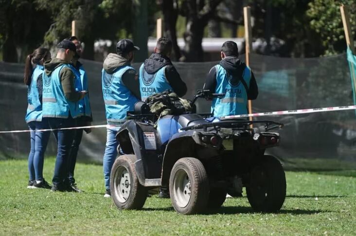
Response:
[{"label": "woman with long ponytail, blue vest and skinny jeans", "polygon": [[31,149],[28,156],[29,182],[27,188],[51,188],[43,178],[44,153],[50,137],[48,122],[42,118],[43,63],[51,59],[47,48],[37,48],[25,62],[24,83],[27,85],[27,112],[25,120],[30,127]]}]

